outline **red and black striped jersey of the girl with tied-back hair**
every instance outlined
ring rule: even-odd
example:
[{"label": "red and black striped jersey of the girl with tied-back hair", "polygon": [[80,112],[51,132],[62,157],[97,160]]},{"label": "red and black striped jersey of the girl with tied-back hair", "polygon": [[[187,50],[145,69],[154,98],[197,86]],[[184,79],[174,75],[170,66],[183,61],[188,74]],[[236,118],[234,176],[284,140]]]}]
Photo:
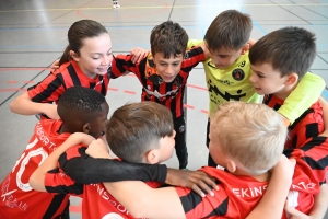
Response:
[{"label": "red and black striped jersey of the girl with tied-back hair", "polygon": [[50,72],[42,82],[28,88],[27,93],[33,102],[52,103],[59,100],[66,89],[80,85],[94,89],[105,96],[109,78],[110,68],[107,74],[97,74],[95,79],[91,79],[82,72],[77,61],[71,60]]}]

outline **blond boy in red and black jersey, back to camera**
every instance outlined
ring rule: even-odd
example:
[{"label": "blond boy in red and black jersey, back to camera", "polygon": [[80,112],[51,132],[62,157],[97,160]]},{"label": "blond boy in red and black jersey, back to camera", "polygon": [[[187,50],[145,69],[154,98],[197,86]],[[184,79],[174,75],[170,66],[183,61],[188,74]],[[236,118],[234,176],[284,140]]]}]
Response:
[{"label": "blond boy in red and black jersey, back to camera", "polygon": [[[241,114],[231,116],[232,112],[241,112]],[[134,181],[106,183],[106,188],[138,218],[156,218],[159,216],[162,218],[190,219],[216,218],[218,216],[246,218],[262,198],[268,186],[268,180],[273,177],[268,171],[277,164],[278,160],[285,159],[281,153],[288,131],[281,115],[263,104],[224,103],[212,115],[212,119],[210,152],[214,161],[227,170],[222,171],[210,166],[201,169],[201,171],[216,180],[220,188],[213,191],[214,196],[200,198],[190,189],[181,187],[153,189],[142,182]],[[226,129],[224,136],[219,134],[221,132],[222,120],[225,124],[232,124],[224,128]],[[241,136],[237,138],[243,140],[241,143],[245,147],[241,148],[237,142],[231,145],[230,141],[224,140],[226,135],[230,139],[235,138],[234,132],[236,130],[241,130]],[[247,146],[253,143],[255,147],[249,149]],[[232,150],[227,151],[227,148]],[[251,161],[238,160],[238,150],[242,150]],[[316,137],[301,149],[286,151],[296,160],[289,200],[304,214],[311,212],[315,195],[320,192],[320,185],[325,184],[325,169],[327,169],[328,157],[323,155],[323,153],[327,150],[327,137]],[[254,161],[261,159],[265,159],[266,162]],[[289,169],[286,164],[282,164],[284,171]],[[312,166],[314,165],[316,171],[313,171]],[[284,181],[285,178],[282,177],[281,180]],[[288,184],[288,182],[282,183]],[[134,189],[136,187],[138,189]],[[284,192],[279,191],[280,193]],[[282,214],[283,203],[282,199],[277,201],[276,205],[271,205],[278,212],[276,218],[286,218],[286,214]],[[316,216],[318,218],[318,215]]]}]

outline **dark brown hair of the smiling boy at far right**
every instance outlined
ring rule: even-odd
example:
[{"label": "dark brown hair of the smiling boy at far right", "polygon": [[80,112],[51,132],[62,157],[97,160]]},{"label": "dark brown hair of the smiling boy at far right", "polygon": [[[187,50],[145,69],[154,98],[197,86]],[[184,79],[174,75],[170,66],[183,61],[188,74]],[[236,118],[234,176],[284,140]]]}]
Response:
[{"label": "dark brown hair of the smiling boy at far right", "polygon": [[309,31],[289,26],[269,33],[249,50],[251,65],[271,64],[281,77],[293,72],[301,79],[316,57],[316,37]]}]

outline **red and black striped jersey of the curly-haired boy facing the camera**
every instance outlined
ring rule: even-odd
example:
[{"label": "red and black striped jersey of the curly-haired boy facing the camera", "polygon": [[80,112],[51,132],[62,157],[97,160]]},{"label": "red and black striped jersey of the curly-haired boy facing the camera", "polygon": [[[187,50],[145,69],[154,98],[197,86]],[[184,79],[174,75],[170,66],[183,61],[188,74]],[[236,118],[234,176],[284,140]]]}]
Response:
[{"label": "red and black striped jersey of the curly-haired boy facing the camera", "polygon": [[112,78],[120,77],[126,71],[133,72],[142,84],[141,101],[153,101],[165,105],[171,110],[173,117],[184,115],[184,93],[189,72],[200,61],[204,60],[201,47],[195,47],[187,51],[181,64],[179,73],[173,82],[166,83],[156,74],[156,67],[151,55],[139,64],[131,61],[131,55],[118,55],[112,62]]}]

